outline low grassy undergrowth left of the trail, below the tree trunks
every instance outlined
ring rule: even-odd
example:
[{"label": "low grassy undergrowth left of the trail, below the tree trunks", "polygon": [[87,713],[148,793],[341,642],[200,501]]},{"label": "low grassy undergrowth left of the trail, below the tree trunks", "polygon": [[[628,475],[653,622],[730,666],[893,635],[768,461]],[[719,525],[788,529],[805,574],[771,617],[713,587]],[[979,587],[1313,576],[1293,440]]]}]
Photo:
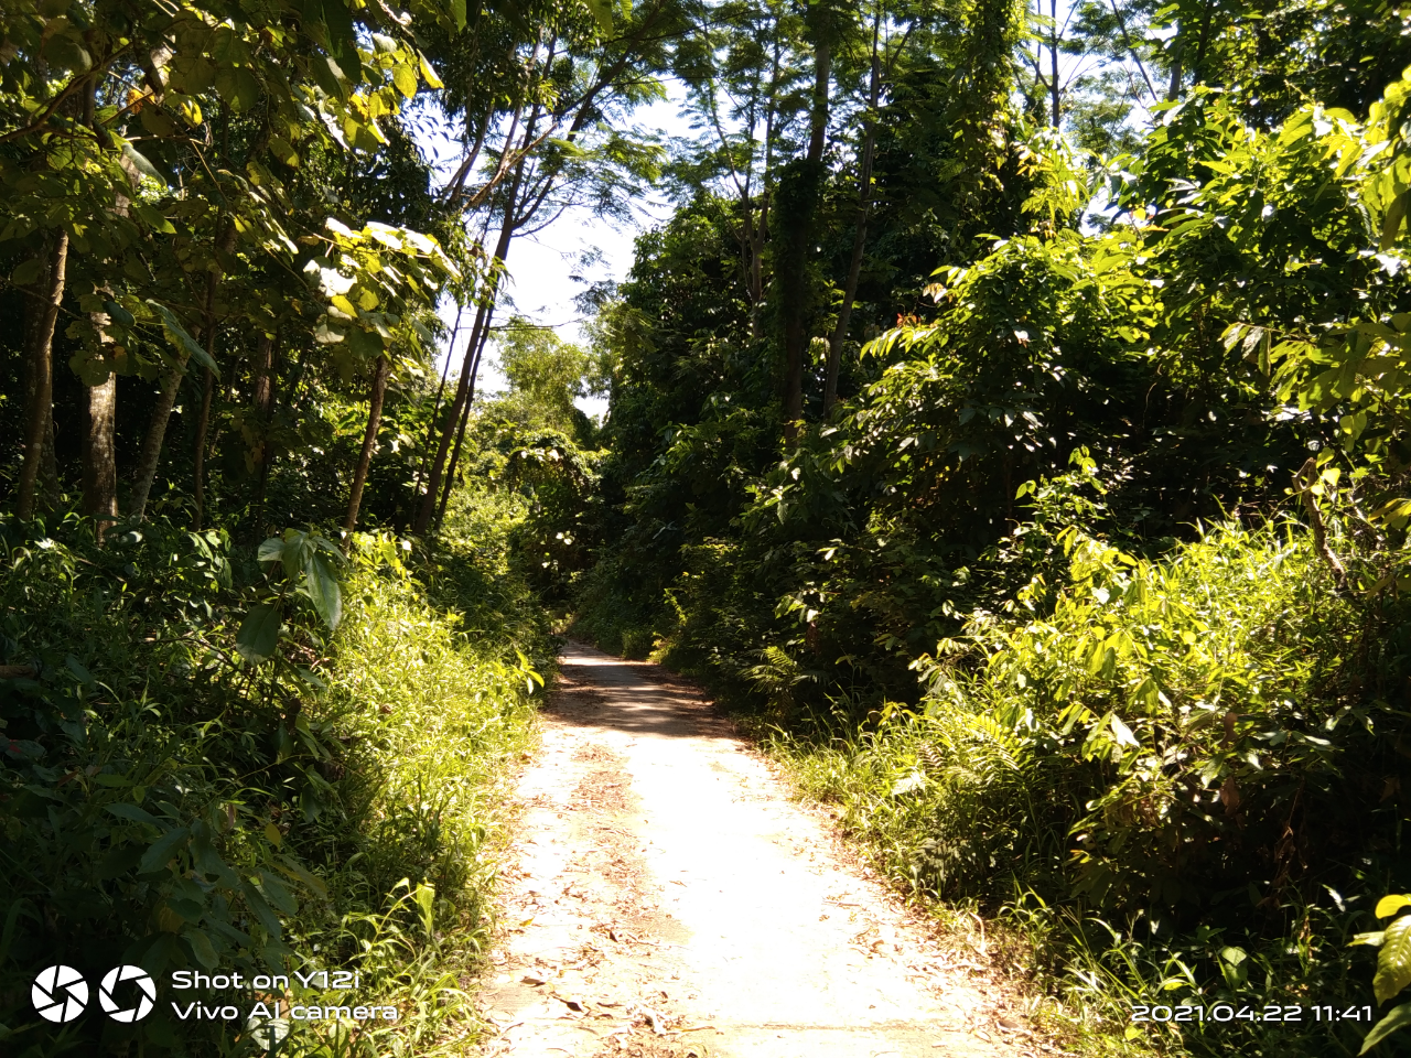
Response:
[{"label": "low grassy undergrowth left of the trail, below the tree trunks", "polygon": [[[222,532],[0,525],[0,1050],[253,1055],[275,997],[396,1019],[293,1021],[279,1054],[463,1054],[508,766],[552,662],[507,564],[504,511],[460,504],[432,547],[357,535],[330,633],[308,600],[279,655],[236,631],[265,576]],[[487,532],[487,526],[492,532]],[[494,529],[494,526],[499,526]],[[498,533],[498,536],[495,535]],[[151,1016],[40,1021],[42,966],[157,980]],[[358,973],[284,996],[178,992],[176,969]],[[171,1000],[236,1004],[182,1020]]]}]

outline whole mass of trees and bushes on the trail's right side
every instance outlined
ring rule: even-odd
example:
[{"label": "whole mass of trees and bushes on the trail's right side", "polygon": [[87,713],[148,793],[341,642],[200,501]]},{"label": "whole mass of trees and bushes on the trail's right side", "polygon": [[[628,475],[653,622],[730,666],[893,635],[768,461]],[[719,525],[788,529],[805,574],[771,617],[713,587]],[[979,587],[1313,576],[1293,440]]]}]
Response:
[{"label": "whole mass of trees and bushes on the trail's right side", "polygon": [[1015,925],[1074,1045],[1356,1054],[1249,1011],[1405,983],[1407,13],[728,11],[600,292],[577,626]]}]

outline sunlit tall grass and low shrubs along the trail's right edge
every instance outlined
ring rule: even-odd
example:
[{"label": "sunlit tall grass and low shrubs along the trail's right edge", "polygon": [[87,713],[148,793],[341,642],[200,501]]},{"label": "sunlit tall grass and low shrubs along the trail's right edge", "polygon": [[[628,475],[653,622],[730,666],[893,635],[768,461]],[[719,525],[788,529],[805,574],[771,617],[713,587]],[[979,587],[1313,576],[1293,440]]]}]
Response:
[{"label": "sunlit tall grass and low shrubs along the trail's right edge", "polygon": [[[917,664],[917,708],[856,728],[835,703],[775,752],[896,884],[1026,938],[1010,968],[1086,1050],[1356,1054],[1370,1026],[1311,1007],[1377,1006],[1349,942],[1411,883],[1405,608],[1338,591],[1290,525],[1216,526],[1154,561],[1065,543],[1062,583]],[[1132,1021],[1216,1002],[1308,1010]]]}]

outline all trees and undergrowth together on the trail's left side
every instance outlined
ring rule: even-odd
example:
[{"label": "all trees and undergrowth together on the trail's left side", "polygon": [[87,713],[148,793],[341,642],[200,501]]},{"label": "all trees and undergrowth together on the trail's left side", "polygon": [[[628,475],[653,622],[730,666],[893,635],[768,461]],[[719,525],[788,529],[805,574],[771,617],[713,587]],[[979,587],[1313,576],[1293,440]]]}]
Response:
[{"label": "all trees and undergrowth together on the trail's left side", "polygon": [[[576,6],[0,13],[0,1051],[262,1054],[312,1000],[382,1013],[281,1054],[463,1054],[553,669],[538,512],[594,442],[584,354],[491,330],[476,229],[631,171],[595,107],[636,59]],[[92,989],[66,1024],[31,1006],[54,963]],[[161,986],[135,1023],[99,1007],[123,963]],[[203,1019],[183,969],[358,978]]]}]

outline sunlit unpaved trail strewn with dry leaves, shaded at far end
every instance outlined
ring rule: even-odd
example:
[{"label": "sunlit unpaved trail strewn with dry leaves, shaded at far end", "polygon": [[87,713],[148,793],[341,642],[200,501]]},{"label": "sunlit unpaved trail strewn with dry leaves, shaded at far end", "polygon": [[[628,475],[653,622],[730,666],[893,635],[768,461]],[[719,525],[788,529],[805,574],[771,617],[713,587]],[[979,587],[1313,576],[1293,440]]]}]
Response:
[{"label": "sunlit unpaved trail strewn with dry leaves, shaded at far end", "polygon": [[[1019,1058],[1003,996],[690,687],[573,643],[521,779],[487,1055]],[[1046,1048],[1047,1050],[1047,1048]]]}]

